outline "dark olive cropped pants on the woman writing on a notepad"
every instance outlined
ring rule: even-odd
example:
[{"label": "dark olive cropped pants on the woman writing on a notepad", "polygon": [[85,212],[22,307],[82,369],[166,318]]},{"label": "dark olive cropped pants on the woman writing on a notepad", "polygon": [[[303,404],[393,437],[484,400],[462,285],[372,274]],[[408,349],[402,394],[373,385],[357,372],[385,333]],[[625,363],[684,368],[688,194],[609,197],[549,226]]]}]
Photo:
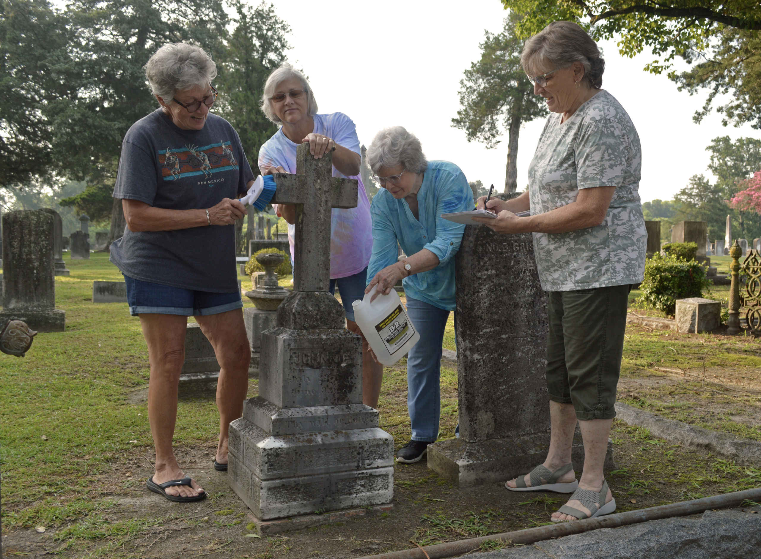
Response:
[{"label": "dark olive cropped pants on the woman writing on a notepad", "polygon": [[626,306],[631,285],[550,291],[547,391],[576,418],[616,417]]}]

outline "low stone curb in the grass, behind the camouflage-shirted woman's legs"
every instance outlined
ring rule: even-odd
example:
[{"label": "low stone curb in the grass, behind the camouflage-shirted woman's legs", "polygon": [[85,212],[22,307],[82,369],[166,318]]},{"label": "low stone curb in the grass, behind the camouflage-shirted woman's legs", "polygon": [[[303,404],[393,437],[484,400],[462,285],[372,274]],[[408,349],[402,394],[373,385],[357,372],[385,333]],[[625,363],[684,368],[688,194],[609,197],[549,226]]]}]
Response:
[{"label": "low stone curb in the grass, behind the camouflage-shirted woman's legs", "polygon": [[740,439],[732,434],[660,418],[622,402],[616,402],[616,417],[626,424],[649,429],[654,437],[681,443],[692,449],[708,450],[740,465],[761,465],[761,443],[755,440]]}]

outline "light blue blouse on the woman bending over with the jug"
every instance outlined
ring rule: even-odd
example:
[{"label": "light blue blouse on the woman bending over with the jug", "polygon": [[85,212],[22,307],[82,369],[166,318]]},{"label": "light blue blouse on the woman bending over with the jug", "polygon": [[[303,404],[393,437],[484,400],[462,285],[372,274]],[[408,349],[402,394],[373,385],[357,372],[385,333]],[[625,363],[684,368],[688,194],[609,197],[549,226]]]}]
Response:
[{"label": "light blue blouse on the woman bending over with the jug", "polygon": [[428,161],[418,191],[418,219],[404,199],[397,200],[380,189],[370,208],[373,252],[367,283],[396,262],[397,242],[407,256],[428,249],[438,256],[438,266],[404,278],[404,292],[439,309],[454,310],[454,255],[460,249],[465,226],[447,221],[441,214],[472,209],[473,191],[460,167],[449,161]]}]

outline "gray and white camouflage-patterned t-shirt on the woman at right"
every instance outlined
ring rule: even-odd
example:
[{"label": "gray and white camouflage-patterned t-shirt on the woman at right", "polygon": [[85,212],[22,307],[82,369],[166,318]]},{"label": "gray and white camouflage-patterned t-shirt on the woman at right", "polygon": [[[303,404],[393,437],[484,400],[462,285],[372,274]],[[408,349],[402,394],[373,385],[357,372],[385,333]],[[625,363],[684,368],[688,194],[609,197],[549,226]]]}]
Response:
[{"label": "gray and white camouflage-patterned t-shirt on the woman at right", "polygon": [[629,115],[600,91],[565,122],[552,114],[528,171],[531,214],[574,202],[579,189],[616,186],[602,224],[533,233],[545,291],[636,284],[645,274],[647,232],[639,201],[642,150]]}]

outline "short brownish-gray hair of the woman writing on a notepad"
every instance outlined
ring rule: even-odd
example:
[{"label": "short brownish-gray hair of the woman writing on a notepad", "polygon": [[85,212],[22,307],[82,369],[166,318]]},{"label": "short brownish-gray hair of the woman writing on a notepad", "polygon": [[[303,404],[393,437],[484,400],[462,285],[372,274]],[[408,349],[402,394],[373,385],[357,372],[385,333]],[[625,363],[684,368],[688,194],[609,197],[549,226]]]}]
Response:
[{"label": "short brownish-gray hair of the woman writing on a notepad", "polygon": [[600,49],[592,37],[572,21],[553,21],[527,40],[521,52],[521,65],[527,75],[568,68],[574,62],[584,66],[582,81],[593,89],[602,87],[605,61]]}]

